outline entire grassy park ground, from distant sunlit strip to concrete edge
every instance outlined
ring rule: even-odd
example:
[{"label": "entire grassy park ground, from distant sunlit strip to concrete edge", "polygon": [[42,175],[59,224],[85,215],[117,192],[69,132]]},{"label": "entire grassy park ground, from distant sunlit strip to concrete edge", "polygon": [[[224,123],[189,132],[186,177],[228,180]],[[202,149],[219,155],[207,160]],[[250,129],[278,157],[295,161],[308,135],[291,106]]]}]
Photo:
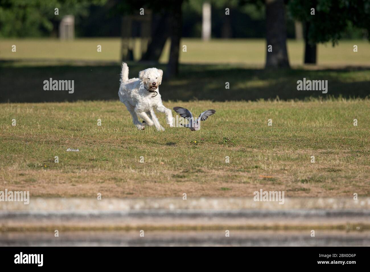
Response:
[{"label": "entire grassy park ground, from distant sunlit strip to concrete edge", "polygon": [[[277,71],[261,69],[263,40],[182,43],[179,76],[160,92],[168,108],[216,110],[198,132],[135,129],[118,101],[119,39],[1,40],[1,188],[40,197],[370,195],[367,41],[320,45],[317,66],[303,66],[303,43],[289,41],[294,69]],[[167,51],[156,67],[165,70]],[[154,66],[128,64],[131,77]],[[75,80],[74,93],[44,91],[50,77]],[[303,78],[328,80],[328,93],[297,91]]]}]

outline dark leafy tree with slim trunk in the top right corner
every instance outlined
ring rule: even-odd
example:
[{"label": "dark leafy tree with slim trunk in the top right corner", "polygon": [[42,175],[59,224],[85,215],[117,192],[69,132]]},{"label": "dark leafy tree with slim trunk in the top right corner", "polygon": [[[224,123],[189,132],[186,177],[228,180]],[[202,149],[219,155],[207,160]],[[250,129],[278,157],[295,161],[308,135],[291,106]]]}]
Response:
[{"label": "dark leafy tree with slim trunk in the top right corner", "polygon": [[317,43],[335,46],[349,25],[370,31],[370,0],[289,0],[288,6],[305,25],[305,63],[316,63]]}]

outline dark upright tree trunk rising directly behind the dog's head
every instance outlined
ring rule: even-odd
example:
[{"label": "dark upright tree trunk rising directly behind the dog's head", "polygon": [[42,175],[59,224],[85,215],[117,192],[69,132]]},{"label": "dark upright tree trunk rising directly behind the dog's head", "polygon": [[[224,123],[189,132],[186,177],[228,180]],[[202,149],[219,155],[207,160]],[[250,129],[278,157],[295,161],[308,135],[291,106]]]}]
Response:
[{"label": "dark upright tree trunk rising directly behind the dog's head", "polygon": [[167,64],[166,78],[171,78],[177,75],[179,71],[179,51],[182,33],[182,16],[181,16],[182,1],[183,0],[174,1],[171,11],[170,19],[171,47],[169,50],[169,60]]}]

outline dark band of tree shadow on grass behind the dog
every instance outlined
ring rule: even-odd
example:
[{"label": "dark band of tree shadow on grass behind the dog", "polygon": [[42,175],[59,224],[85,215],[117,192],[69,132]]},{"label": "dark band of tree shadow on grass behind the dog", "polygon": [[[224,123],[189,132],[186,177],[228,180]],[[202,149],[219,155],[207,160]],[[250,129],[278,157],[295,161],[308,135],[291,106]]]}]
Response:
[{"label": "dark band of tree shadow on grass behind the dog", "polygon": [[[80,66],[17,66],[0,63],[0,102],[51,102],[77,100],[117,100],[120,65],[84,64]],[[129,63],[129,77],[155,66]],[[328,93],[297,91],[297,80],[328,80]],[[44,80],[74,80],[74,93],[45,91]],[[228,65],[182,64],[180,74],[164,79],[160,87],[163,100],[281,100],[307,97],[366,97],[370,94],[370,68],[328,70],[262,70]],[[225,84],[230,88],[226,89]]]}]

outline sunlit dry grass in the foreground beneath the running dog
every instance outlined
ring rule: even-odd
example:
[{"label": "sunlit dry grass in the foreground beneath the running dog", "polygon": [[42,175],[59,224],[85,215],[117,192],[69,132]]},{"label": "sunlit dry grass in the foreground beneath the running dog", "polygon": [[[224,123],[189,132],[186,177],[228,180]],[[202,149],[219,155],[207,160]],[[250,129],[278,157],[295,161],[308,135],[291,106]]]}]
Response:
[{"label": "sunlit dry grass in the foreground beneath the running dog", "polygon": [[164,104],[217,112],[201,131],[157,132],[137,131],[118,101],[0,104],[0,187],[43,197],[370,195],[368,99]]}]

